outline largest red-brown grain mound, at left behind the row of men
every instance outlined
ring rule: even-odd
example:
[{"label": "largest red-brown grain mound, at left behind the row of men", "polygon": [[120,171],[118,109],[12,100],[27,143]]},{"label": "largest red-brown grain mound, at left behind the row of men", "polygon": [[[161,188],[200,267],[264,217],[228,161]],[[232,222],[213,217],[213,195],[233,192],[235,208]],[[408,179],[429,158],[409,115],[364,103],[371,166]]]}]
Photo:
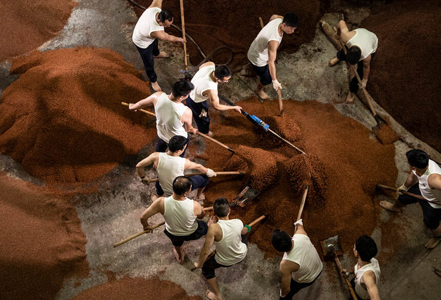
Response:
[{"label": "largest red-brown grain mound, at left behind the row of men", "polygon": [[48,182],[101,176],[156,135],[154,118],[121,101],[150,94],[141,73],[108,49],[34,52],[17,58],[22,75],[2,94],[0,151]]}]

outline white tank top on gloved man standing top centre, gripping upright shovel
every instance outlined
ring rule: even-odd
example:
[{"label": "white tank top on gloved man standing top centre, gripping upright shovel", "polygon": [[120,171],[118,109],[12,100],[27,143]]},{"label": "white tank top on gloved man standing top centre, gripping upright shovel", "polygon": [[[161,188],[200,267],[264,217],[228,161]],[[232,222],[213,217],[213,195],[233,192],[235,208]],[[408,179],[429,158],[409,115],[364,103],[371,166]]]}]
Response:
[{"label": "white tank top on gloved man standing top centre, gripping upright shovel", "polygon": [[[282,36],[278,34],[278,26],[283,22],[282,18],[275,18],[273,21],[265,25],[253,43],[251,43],[250,49],[248,49],[248,60],[257,67],[263,67],[268,65],[268,43],[270,41],[277,41],[280,46],[282,42]],[[283,35],[283,32],[282,32]]]}]

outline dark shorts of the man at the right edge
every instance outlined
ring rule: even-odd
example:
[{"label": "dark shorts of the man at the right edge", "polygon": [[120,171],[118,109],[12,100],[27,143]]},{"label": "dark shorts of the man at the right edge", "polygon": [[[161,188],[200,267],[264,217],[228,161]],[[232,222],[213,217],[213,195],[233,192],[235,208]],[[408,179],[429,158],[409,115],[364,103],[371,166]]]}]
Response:
[{"label": "dark shorts of the man at the right edge", "polygon": [[[408,192],[416,195],[421,195],[418,184],[410,187]],[[439,222],[441,222],[441,208],[433,208],[427,201],[417,199],[409,195],[399,195],[398,200],[404,205],[418,202],[423,209],[423,221],[427,228],[432,230],[438,228]]]}]

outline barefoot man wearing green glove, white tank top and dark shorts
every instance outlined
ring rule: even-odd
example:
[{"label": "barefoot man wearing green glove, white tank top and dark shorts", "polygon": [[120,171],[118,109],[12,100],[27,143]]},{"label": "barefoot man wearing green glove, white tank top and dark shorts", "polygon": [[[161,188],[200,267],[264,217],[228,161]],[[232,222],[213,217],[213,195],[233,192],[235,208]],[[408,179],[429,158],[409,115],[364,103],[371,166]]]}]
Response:
[{"label": "barefoot man wearing green glove, white tank top and dark shorts", "polygon": [[[239,219],[229,219],[230,204],[226,198],[217,198],[213,204],[217,223],[209,225],[204,247],[199,259],[194,263],[196,268],[202,268],[202,274],[207,279],[212,291],[207,290],[209,299],[222,299],[215,270],[220,267],[231,267],[242,262],[247,255],[247,234],[251,230]],[[216,246],[215,254],[210,254],[210,248]]]}]

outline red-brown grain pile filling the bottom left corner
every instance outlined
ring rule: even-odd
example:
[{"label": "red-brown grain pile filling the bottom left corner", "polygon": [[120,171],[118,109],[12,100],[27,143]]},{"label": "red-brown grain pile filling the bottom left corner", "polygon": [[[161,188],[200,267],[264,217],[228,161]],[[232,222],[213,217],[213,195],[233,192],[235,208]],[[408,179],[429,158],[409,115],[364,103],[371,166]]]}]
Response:
[{"label": "red-brown grain pile filling the bottom left corner", "polygon": [[0,174],[0,291],[8,300],[53,299],[88,274],[86,236],[69,200]]}]

